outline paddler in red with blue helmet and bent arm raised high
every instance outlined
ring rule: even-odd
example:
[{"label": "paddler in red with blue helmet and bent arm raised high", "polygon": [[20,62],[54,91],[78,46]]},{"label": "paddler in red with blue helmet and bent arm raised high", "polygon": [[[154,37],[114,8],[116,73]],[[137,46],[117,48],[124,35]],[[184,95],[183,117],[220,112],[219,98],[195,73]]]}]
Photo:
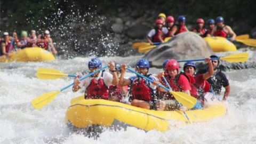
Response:
[{"label": "paddler in red with blue helmet and bent arm raised high", "polygon": [[[197,98],[197,100],[201,103],[202,107],[204,106],[204,103],[205,103],[204,95],[206,92],[209,92],[211,89],[209,82],[207,82],[206,80],[213,75],[213,66],[210,58],[206,58],[205,62],[208,63],[208,71],[204,74],[195,75],[196,65],[192,61],[186,62],[185,65],[183,66],[184,72],[194,77],[193,81],[195,83],[191,83],[192,81],[190,79],[190,86],[191,86],[190,94],[191,96]],[[214,95],[211,95],[211,96],[212,96],[211,98],[207,96],[207,101],[214,99]]]}]

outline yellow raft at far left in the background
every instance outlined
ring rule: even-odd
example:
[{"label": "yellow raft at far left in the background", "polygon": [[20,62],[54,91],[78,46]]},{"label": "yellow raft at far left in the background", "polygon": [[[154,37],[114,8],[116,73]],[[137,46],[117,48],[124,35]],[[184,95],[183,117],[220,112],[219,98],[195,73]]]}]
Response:
[{"label": "yellow raft at far left in the background", "polygon": [[[53,61],[55,57],[49,51],[40,47],[27,47],[18,52],[12,52],[8,61]],[[0,62],[6,61],[6,55],[0,57]]]}]

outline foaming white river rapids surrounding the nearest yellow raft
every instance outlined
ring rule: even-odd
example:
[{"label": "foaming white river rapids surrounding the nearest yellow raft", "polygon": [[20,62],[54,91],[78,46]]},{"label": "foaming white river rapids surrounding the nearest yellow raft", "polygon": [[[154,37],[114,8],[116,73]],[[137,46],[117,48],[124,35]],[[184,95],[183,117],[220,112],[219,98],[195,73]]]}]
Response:
[{"label": "foaming white river rapids surrounding the nearest yellow raft", "polygon": [[[109,60],[130,64],[139,58],[100,59],[106,65]],[[39,110],[31,106],[31,100],[39,95],[58,91],[73,83],[73,78],[68,77],[38,79],[38,68],[53,68],[71,75],[85,74],[89,60],[74,58],[52,62],[0,63],[0,143],[256,143],[255,69],[225,72],[231,86],[226,116],[163,133],[155,130],[146,133],[130,127],[127,131],[107,130],[96,140],[69,131],[64,122],[66,110],[70,100],[83,95],[84,89],[76,93],[71,88],[64,90]],[[150,69],[153,74],[159,70]],[[126,77],[132,75],[127,73]]]}]

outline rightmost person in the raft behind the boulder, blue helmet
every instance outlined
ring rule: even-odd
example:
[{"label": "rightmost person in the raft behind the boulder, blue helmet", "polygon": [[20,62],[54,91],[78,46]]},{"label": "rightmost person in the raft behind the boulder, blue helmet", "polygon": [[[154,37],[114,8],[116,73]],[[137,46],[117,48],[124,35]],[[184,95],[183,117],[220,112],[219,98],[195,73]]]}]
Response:
[{"label": "rightmost person in the raft behind the boulder, blue helmet", "polygon": [[217,22],[217,26],[215,26],[212,29],[212,36],[220,36],[220,37],[228,37],[229,35],[230,37],[230,41],[235,41],[236,39],[236,34],[235,32],[232,30],[231,27],[224,25],[224,19],[223,17],[218,17],[216,19]]}]

